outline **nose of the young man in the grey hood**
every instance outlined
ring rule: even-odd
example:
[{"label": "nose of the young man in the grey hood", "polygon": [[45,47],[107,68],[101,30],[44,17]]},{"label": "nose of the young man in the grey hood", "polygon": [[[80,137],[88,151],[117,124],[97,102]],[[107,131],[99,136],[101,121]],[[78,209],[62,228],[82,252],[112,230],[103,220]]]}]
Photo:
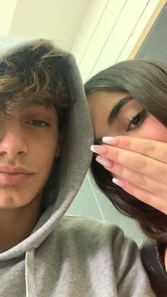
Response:
[{"label": "nose of the young man in the grey hood", "polygon": [[25,155],[28,152],[28,142],[21,125],[9,124],[2,132],[0,128],[0,155],[16,157]]}]

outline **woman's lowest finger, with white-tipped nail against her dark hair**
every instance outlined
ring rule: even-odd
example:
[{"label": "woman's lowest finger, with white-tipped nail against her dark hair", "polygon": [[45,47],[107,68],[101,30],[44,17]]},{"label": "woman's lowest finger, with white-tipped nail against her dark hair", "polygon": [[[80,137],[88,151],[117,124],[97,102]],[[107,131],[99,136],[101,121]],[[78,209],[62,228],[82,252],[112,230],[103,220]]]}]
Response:
[{"label": "woman's lowest finger, with white-tipped nail against her dark hair", "polygon": [[133,184],[129,183],[128,181],[120,180],[120,179],[113,179],[114,184],[120,186],[124,191],[131,194],[135,198],[139,199],[140,201],[152,206],[162,213],[167,215],[167,203],[166,200],[156,196],[148,191],[141,189]]}]

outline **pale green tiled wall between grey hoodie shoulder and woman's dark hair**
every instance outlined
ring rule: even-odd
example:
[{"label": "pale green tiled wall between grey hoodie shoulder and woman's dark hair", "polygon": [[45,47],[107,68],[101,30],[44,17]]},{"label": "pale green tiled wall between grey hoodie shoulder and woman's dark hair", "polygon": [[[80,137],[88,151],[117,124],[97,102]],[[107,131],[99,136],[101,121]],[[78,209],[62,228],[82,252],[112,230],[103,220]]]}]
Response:
[{"label": "pale green tiled wall between grey hoodie shoulder and woman's dark hair", "polygon": [[119,225],[124,230],[125,235],[132,237],[139,247],[146,240],[137,223],[119,213],[108,198],[97,189],[90,174],[87,174],[79,193],[67,211],[67,215],[108,220],[113,224]]}]

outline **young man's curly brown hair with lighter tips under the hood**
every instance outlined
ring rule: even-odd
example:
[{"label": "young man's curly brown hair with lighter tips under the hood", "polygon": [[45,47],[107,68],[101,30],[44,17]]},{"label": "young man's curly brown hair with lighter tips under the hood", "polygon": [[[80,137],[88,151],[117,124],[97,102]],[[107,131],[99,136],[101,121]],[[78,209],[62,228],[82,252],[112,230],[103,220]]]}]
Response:
[{"label": "young man's curly brown hair with lighter tips under the hood", "polygon": [[0,110],[19,113],[32,104],[54,106],[62,127],[71,103],[68,54],[43,40],[0,60]]}]

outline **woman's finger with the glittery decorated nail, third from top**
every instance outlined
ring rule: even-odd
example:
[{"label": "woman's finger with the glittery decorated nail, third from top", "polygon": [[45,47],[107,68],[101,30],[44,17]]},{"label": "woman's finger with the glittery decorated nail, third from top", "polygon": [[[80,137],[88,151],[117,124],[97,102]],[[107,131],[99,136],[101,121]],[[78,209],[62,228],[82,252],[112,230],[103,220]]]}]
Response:
[{"label": "woman's finger with the glittery decorated nail, third from top", "polygon": [[[99,158],[96,159],[98,161]],[[100,159],[100,164],[103,164],[105,169],[108,169],[108,171],[114,174],[114,176],[119,176],[120,179],[130,181],[130,184],[133,184],[134,186],[137,186],[140,189],[149,191],[150,193],[156,196],[161,196],[161,198],[164,199],[166,198],[166,184],[162,184],[160,181],[151,179],[148,176],[145,176],[144,174],[140,174],[128,168],[122,167],[120,164],[117,164],[116,162],[112,164],[108,161],[103,162],[102,159]]]}]

